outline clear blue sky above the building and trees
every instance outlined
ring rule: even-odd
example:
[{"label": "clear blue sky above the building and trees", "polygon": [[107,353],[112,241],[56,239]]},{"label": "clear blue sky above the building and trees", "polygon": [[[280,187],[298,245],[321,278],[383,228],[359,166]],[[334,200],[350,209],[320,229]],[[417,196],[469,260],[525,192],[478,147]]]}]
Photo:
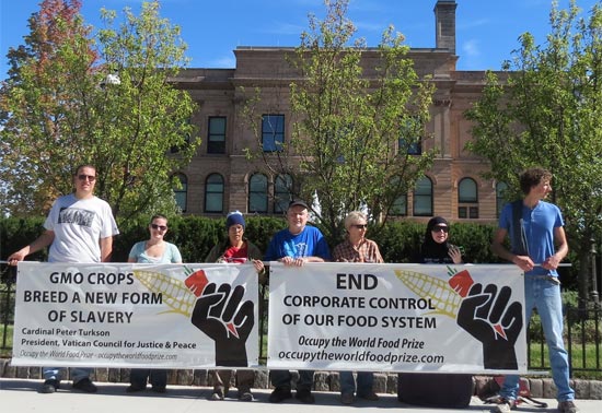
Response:
[{"label": "clear blue sky above the building and trees", "polygon": [[[100,24],[100,9],[139,14],[142,0],[82,0],[88,24]],[[577,0],[586,14],[600,0]],[[551,32],[552,0],[456,0],[459,70],[499,70],[518,37],[530,32],[537,44]],[[562,9],[569,0],[558,0]],[[377,46],[393,24],[410,47],[435,47],[436,0],[350,0],[348,17],[358,37]],[[233,68],[238,46],[298,46],[308,30],[308,14],[324,14],[323,0],[162,0],[161,15],[182,27],[193,68]],[[23,43],[27,19],[39,0],[0,0],[0,76],[5,78],[9,47]]]}]

